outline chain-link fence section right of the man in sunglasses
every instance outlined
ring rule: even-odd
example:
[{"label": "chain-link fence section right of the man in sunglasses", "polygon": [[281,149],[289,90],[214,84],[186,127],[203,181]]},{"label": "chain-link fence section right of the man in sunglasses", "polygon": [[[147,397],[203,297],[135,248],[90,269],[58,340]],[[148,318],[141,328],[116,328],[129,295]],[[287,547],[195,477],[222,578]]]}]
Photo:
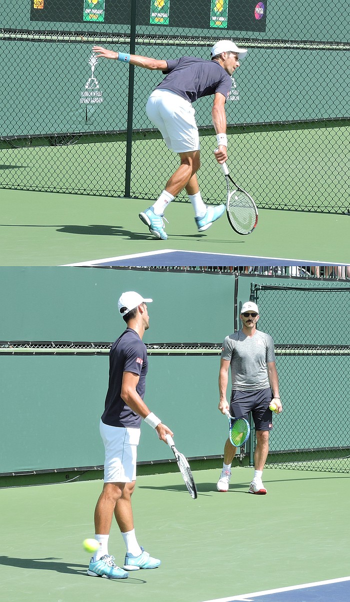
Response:
[{"label": "chain-link fence section right of the man in sunglasses", "polygon": [[269,467],[350,472],[349,295],[346,283],[251,285],[259,329],[275,341],[283,403]]}]

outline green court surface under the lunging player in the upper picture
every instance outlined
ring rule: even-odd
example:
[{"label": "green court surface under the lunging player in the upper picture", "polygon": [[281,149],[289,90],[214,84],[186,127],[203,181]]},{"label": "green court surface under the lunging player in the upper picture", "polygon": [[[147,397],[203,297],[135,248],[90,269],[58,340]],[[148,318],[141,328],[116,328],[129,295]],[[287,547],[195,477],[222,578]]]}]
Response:
[{"label": "green court surface under the lunging player in the upper picture", "polygon": [[192,206],[173,202],[168,240],[158,241],[138,217],[149,200],[19,190],[2,190],[1,198],[1,265],[63,265],[159,249],[349,261],[346,215],[262,209],[256,230],[243,237],[225,216],[198,233]]}]

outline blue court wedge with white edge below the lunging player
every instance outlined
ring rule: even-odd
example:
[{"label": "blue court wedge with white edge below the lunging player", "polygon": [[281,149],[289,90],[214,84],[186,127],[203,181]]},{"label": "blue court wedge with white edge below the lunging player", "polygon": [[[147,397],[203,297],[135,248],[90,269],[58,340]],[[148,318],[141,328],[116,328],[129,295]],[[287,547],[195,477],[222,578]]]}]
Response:
[{"label": "blue court wedge with white edge below the lunging player", "polygon": [[[122,255],[105,259],[93,259],[80,263],[66,265],[125,265],[126,267],[146,267],[149,265],[333,265],[325,261],[310,261],[309,259],[283,259],[280,257],[256,257],[251,255],[226,255],[224,253],[203,253],[166,249]],[[343,265],[343,264],[338,264]]]}]

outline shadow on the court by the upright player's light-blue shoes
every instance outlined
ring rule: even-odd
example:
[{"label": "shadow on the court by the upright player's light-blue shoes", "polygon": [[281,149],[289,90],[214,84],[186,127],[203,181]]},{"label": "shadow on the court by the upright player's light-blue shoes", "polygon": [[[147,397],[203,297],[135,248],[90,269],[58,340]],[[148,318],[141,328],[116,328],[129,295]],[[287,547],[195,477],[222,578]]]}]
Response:
[{"label": "shadow on the court by the upright player's light-blue shoes", "polygon": [[[37,571],[55,571],[56,573],[66,573],[70,575],[87,576],[87,564],[75,564],[66,562],[57,562],[59,558],[12,558],[11,556],[0,556],[0,565],[16,566],[16,568],[29,568]],[[118,579],[118,582],[129,583],[147,583],[143,579]]]}]

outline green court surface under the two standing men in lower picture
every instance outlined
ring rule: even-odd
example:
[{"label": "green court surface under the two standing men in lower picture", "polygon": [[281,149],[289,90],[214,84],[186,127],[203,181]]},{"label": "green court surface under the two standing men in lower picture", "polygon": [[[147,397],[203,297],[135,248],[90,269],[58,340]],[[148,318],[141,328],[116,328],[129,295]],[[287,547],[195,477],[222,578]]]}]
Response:
[{"label": "green court surface under the two standing men in lower picture", "polygon": [[[194,471],[197,500],[179,473],[138,477],[138,538],[162,564],[117,582],[85,575],[100,480],[1,489],[2,599],[203,602],[347,576],[348,476],[265,469],[260,497],[251,471],[235,468],[226,494],[220,471]],[[109,549],[123,562],[116,524]]]}]

